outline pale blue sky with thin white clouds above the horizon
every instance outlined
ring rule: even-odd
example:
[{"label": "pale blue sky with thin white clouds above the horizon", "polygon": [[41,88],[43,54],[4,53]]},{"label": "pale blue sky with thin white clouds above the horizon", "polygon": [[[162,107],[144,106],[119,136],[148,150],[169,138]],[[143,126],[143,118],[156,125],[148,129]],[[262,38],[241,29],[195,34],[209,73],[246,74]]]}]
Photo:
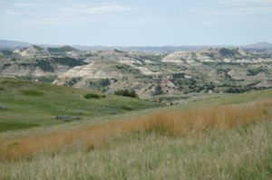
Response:
[{"label": "pale blue sky with thin white clouds above the horizon", "polygon": [[272,0],[0,0],[0,40],[87,46],[272,43]]}]

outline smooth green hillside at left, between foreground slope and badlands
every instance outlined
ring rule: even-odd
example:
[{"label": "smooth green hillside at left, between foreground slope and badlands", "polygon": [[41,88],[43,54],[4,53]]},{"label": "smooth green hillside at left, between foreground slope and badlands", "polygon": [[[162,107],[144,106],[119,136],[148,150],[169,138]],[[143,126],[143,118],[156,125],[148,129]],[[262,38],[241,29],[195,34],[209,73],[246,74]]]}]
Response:
[{"label": "smooth green hillside at left, between foreground slope and badlands", "polygon": [[56,115],[94,118],[160,106],[158,103],[114,95],[98,94],[100,99],[85,99],[89,90],[49,83],[0,77],[1,131],[62,124]]}]

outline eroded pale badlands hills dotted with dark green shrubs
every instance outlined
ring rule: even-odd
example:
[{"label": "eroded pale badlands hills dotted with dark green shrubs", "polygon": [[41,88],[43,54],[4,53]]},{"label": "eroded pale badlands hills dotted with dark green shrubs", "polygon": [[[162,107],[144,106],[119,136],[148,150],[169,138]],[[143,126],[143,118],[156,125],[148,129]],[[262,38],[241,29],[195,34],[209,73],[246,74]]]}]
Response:
[{"label": "eroded pale badlands hills dotted with dark green shrubs", "polygon": [[135,90],[142,99],[186,102],[272,87],[271,55],[241,48],[167,54],[33,45],[0,53],[2,76],[106,93]]}]

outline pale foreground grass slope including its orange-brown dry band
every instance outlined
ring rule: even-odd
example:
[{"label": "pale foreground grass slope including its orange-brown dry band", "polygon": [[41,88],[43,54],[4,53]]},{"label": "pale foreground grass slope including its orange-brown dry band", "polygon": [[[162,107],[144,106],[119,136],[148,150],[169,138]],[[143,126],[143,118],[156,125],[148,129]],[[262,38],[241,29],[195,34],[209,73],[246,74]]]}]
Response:
[{"label": "pale foreground grass slope including its orange-brown dry band", "polygon": [[271,179],[271,98],[264,90],[2,132],[0,177]]}]

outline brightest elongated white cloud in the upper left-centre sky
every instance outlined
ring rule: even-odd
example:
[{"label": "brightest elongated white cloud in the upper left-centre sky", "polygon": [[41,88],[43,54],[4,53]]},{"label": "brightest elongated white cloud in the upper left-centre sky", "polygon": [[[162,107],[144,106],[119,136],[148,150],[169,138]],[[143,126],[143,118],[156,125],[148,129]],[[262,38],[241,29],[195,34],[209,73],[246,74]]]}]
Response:
[{"label": "brightest elongated white cloud in the upper left-centre sky", "polygon": [[60,8],[60,10],[84,14],[106,14],[112,12],[130,11],[132,10],[132,8],[125,5],[108,5],[94,8]]}]

